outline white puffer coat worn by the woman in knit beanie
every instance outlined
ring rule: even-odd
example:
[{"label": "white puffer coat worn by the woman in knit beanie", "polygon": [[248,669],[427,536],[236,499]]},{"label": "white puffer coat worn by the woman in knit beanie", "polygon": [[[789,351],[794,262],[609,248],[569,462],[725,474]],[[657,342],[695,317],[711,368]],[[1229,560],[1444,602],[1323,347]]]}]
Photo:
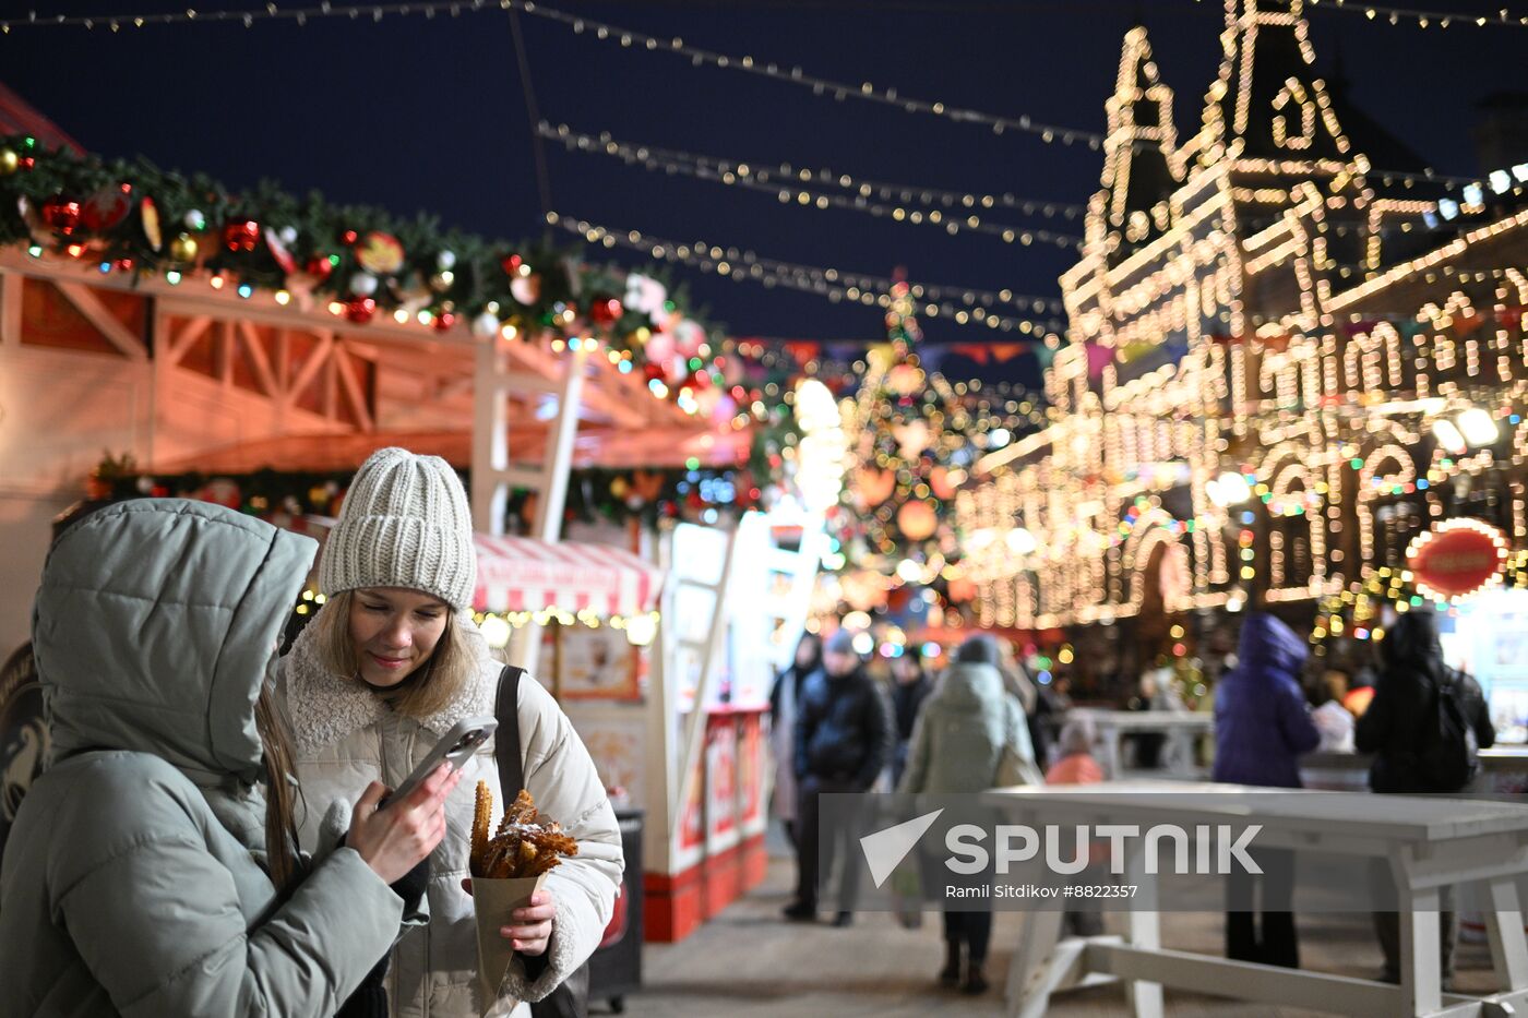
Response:
[{"label": "white puffer coat worn by the woman in knit beanie", "polygon": [[[322,610],[327,610],[322,608]],[[397,787],[429,754],[435,741],[465,717],[492,715],[503,666],[494,660],[469,616],[460,616],[477,656],[475,680],[423,721],[396,714],[358,682],[322,668],[309,625],[281,662],[280,689],[296,744],[298,776],[307,812],[303,845],[316,844],[332,802],[354,787],[379,780]],[[520,683],[518,718],[526,787],[536,809],[562,824],[578,841],[578,856],[552,870],[547,890],[556,899],[549,965],[533,981],[516,957],[500,986],[495,1013],[524,1013],[520,1001],[541,1000],[594,952],[620,888],[625,858],[616,813],[594,761],[556,700],[539,683]],[[413,931],[393,952],[388,974],[393,1015],[399,1018],[466,1018],[483,1013],[477,1000],[477,923],[472,899],[461,890],[472,841],[474,793],[478,781],[494,790],[494,813],[504,809],[504,790],[489,740],[463,770],[446,799],[446,836],[429,859],[429,926]],[[513,796],[510,789],[509,795]]]}]

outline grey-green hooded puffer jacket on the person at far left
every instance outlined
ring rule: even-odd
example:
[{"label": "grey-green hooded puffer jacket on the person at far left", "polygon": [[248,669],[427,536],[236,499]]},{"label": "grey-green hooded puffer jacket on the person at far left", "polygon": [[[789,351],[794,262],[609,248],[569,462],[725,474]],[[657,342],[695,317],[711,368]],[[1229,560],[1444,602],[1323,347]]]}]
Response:
[{"label": "grey-green hooded puffer jacket on the person at far left", "polygon": [[263,868],[254,703],[313,552],[142,500],[49,553],[32,640],[53,751],[0,873],[0,1016],[327,1018],[387,952],[403,903],[354,850],[284,903]]}]

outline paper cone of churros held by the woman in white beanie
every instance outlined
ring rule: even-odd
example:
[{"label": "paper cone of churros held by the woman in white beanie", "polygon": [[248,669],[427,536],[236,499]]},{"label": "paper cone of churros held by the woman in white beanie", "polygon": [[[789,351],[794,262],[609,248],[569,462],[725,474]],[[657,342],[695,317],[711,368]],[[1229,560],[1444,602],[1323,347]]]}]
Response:
[{"label": "paper cone of churros held by the woman in white beanie", "polygon": [[578,842],[562,827],[536,812],[524,789],[504,810],[492,836],[494,793],[478,781],[477,809],[472,816],[472,908],[478,931],[478,987],[483,1013],[498,997],[500,983],[515,957],[504,926],[516,925],[513,911],[530,903],[530,896],[547,882],[547,873],[564,856],[578,854]]}]

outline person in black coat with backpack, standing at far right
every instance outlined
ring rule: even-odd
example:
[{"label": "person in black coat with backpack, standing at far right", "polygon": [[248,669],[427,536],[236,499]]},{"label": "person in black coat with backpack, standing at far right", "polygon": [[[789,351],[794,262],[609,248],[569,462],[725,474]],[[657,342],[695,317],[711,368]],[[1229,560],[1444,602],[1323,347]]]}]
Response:
[{"label": "person in black coat with backpack, standing at far right", "polygon": [[[1397,616],[1384,630],[1378,645],[1380,674],[1374,688],[1374,700],[1354,726],[1354,743],[1361,754],[1374,754],[1369,767],[1369,789],[1374,792],[1462,792],[1468,780],[1458,787],[1439,787],[1435,775],[1426,772],[1423,757],[1429,749],[1429,737],[1438,740],[1436,705],[1441,691],[1456,683],[1458,700],[1464,706],[1465,723],[1470,726],[1476,749],[1490,749],[1496,743],[1496,728],[1481,686],[1470,676],[1449,668],[1442,662],[1442,647],[1438,642],[1438,621],[1432,610],[1421,608]],[[1473,757],[1473,752],[1471,752]],[[1471,760],[1471,769],[1479,770],[1479,761]],[[1471,775],[1473,776],[1473,775]],[[1387,882],[1389,874],[1377,877]],[[1453,977],[1455,916],[1453,888],[1438,891],[1438,946],[1442,978]],[[1375,932],[1384,952],[1381,978],[1398,983],[1401,975],[1401,919],[1397,913],[1375,913]]]}]

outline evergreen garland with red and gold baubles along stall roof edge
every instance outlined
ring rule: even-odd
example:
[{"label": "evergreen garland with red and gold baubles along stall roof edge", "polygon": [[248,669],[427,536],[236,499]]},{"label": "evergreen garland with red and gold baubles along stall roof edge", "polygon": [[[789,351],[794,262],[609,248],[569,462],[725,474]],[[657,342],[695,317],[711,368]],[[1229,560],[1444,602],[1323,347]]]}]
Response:
[{"label": "evergreen garland with red and gold baubles along stall roof edge", "polygon": [[241,297],[327,303],[353,324],[379,313],[437,330],[593,338],[654,394],[698,413],[735,385],[732,344],[714,342],[659,272],[591,264],[550,245],[486,240],[425,216],[298,199],[270,182],[238,194],[147,159],[105,160],[0,136],[0,245],[96,261],[102,272],[206,280]]}]

